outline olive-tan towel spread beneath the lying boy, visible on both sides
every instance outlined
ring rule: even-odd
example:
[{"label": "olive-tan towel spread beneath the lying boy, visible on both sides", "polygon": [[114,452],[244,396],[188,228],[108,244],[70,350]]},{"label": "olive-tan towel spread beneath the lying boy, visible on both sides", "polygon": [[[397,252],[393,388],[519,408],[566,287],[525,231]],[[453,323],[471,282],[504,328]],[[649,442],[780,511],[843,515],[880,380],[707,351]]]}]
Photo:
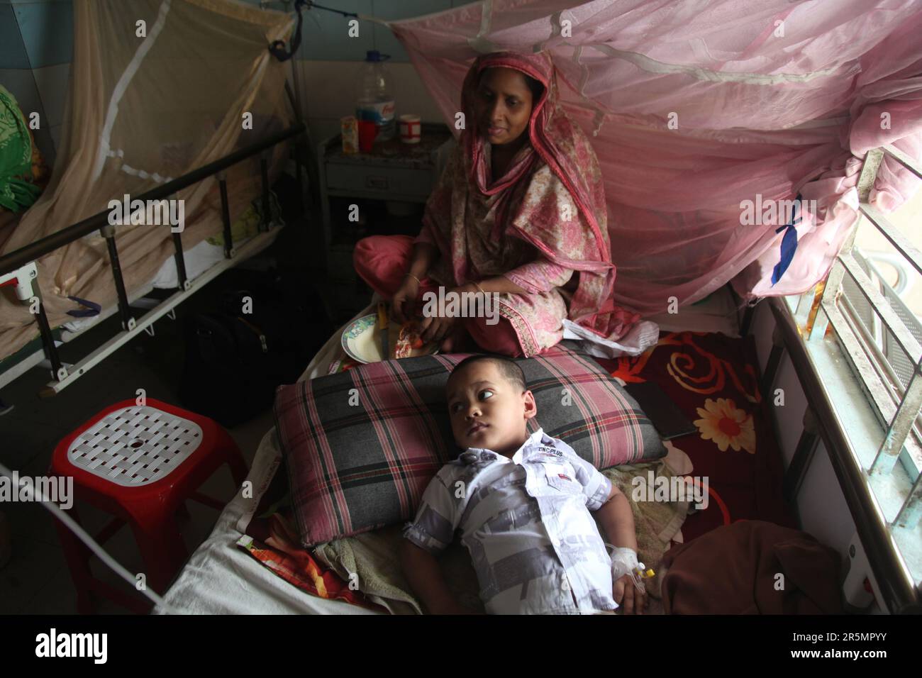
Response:
[{"label": "olive-tan towel spread beneath the lying boy, visible on both sides", "polygon": [[[644,565],[656,569],[657,576],[648,582],[647,590],[658,598],[659,561],[668,550],[669,541],[685,522],[689,503],[634,502],[631,498],[634,489],[632,481],[639,477],[646,482],[649,470],[654,472],[655,479],[675,475],[666,458],[604,469],[602,473],[618,485],[630,500],[637,533],[638,559]],[[400,567],[398,547],[403,539],[402,529],[402,525],[392,525],[355,537],[327,541],[318,545],[313,554],[346,581],[350,581],[352,573],[358,575],[359,589],[391,613],[420,614],[420,601],[413,595]],[[470,554],[457,539],[439,556],[439,565],[455,599],[471,610],[482,613],[483,602],[479,598],[477,575],[471,565]]]}]

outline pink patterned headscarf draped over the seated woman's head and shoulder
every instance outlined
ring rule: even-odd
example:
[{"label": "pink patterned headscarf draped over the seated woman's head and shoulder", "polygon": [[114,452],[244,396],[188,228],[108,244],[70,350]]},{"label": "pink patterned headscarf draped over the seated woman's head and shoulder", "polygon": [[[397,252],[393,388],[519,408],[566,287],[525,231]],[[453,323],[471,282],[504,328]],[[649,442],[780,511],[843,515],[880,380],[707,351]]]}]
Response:
[{"label": "pink patterned headscarf draped over the seated woman's head and shoulder", "polygon": [[[488,141],[479,129],[474,101],[480,71],[497,66],[514,68],[535,78],[544,86],[544,92],[533,102],[528,121],[531,149],[517,153],[517,160],[505,175],[490,184],[491,171],[485,152]],[[496,52],[479,56],[465,77],[461,107],[466,128],[461,134],[460,145],[465,150],[468,190],[475,190],[476,186],[485,196],[502,194],[493,236],[498,238],[505,234],[521,238],[533,244],[550,262],[579,271],[579,285],[569,308],[570,319],[601,337],[621,338],[640,316],[626,312],[612,301],[615,268],[611,263],[602,174],[585,133],[559,103],[557,74],[550,54]],[[574,215],[570,220],[563,220],[562,202],[549,208],[543,196],[528,199],[531,186],[526,188],[524,199],[515,204],[508,199],[514,194],[522,195],[516,187],[530,182],[541,161],[569,191],[582,219]]]}]

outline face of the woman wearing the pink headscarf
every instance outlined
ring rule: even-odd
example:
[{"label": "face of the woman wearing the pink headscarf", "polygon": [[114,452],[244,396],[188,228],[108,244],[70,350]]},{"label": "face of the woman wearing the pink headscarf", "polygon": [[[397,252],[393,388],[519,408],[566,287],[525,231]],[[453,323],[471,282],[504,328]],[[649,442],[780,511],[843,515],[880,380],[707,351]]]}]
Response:
[{"label": "face of the woman wearing the pink headscarf", "polygon": [[480,77],[476,102],[484,137],[494,146],[513,144],[514,148],[531,117],[532,96],[525,75],[514,68],[487,68]]}]

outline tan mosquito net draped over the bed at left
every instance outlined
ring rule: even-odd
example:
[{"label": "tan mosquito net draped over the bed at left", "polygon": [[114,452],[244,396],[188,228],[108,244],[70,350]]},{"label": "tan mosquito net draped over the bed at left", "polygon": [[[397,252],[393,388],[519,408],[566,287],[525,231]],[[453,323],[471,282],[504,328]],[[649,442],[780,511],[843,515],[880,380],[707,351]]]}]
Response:
[{"label": "tan mosquito net draped over the bed at left", "polygon": [[[267,47],[286,40],[292,27],[290,15],[234,0],[75,0],[74,60],[52,182],[2,252],[289,126],[288,65]],[[244,113],[252,113],[252,128]],[[278,173],[284,153],[283,145],[276,147],[271,175]],[[232,219],[258,195],[259,177],[258,158],[228,170]],[[175,197],[184,201],[186,250],[220,232],[216,179]],[[171,237],[169,226],[116,227],[129,295],[172,256]],[[103,307],[115,303],[109,257],[98,233],[41,258],[39,269],[53,327],[73,319],[66,311],[77,306],[68,296]],[[0,356],[36,335],[34,320],[28,306],[0,297]]]}]

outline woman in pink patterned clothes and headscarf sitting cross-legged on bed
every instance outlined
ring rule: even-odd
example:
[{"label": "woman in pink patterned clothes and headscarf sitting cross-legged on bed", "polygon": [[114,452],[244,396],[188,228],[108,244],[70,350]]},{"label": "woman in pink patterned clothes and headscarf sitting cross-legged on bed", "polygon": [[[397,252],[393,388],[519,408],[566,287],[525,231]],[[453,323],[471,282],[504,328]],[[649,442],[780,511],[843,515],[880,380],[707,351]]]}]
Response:
[{"label": "woman in pink patterned clothes and headscarf sitting cross-legged on bed", "polygon": [[[404,322],[423,294],[492,295],[492,317],[429,316],[422,339],[443,352],[530,357],[563,319],[618,339],[635,322],[611,302],[607,208],[598,160],[563,112],[550,55],[481,55],[465,77],[466,126],[426,204],[422,230],[362,239],[356,271]],[[469,295],[461,299],[469,299]],[[498,306],[498,308],[497,308]]]}]

